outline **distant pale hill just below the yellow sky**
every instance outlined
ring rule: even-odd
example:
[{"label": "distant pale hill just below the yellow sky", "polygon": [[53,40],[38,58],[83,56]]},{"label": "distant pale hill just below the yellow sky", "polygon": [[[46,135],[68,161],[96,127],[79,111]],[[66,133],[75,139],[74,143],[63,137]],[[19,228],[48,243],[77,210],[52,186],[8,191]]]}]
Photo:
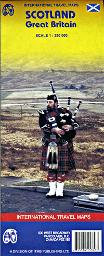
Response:
[{"label": "distant pale hill just below the yellow sky", "polygon": [[1,89],[9,88],[31,88],[49,85],[53,81],[57,86],[66,84],[81,84],[96,88],[102,88],[104,83],[104,72],[77,72],[65,70],[45,71],[6,71],[2,72]]}]

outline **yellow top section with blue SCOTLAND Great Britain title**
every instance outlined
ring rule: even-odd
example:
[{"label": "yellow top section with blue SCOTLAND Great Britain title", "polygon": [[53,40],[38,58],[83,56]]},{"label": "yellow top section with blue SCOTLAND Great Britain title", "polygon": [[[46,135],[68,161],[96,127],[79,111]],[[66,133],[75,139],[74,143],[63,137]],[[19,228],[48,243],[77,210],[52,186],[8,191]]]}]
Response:
[{"label": "yellow top section with blue SCOTLAND Great Britain title", "polygon": [[1,1],[2,69],[103,70],[103,1]]}]

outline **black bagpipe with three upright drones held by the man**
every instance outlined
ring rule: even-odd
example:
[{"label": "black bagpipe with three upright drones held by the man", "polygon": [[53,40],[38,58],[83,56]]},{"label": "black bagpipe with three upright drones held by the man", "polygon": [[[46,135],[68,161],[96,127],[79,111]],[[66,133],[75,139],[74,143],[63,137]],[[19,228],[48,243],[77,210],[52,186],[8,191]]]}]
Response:
[{"label": "black bagpipe with three upright drones held by the man", "polygon": [[[55,89],[54,89],[54,84],[52,81],[49,82],[50,83],[50,86],[51,86],[51,89],[53,91],[53,94],[56,95],[55,93]],[[59,98],[58,96],[56,95],[57,97],[57,102],[58,102],[58,105],[57,107],[59,108]],[[68,97],[68,104],[67,104],[67,111],[65,114],[61,114],[58,112],[58,109],[54,109],[54,112],[56,112],[60,118],[60,127],[59,128],[62,128],[63,125],[72,125],[73,127],[73,130],[69,130],[69,131],[65,131],[64,135],[62,136],[63,139],[72,139],[75,137],[75,131],[77,129],[79,129],[80,125],[79,125],[79,122],[77,122],[75,120],[75,116],[77,114],[77,112],[79,111],[79,107],[82,103],[82,101],[79,101],[79,103],[77,104],[77,107],[75,108],[75,112],[73,115],[71,115],[71,112],[70,112],[70,100],[71,100],[71,97]]]}]

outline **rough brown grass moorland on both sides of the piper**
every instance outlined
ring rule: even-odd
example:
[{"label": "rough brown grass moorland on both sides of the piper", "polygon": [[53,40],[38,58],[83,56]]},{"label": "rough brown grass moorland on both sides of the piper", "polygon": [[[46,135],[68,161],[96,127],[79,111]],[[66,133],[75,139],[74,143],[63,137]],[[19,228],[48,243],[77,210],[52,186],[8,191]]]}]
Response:
[{"label": "rough brown grass moorland on both sides of the piper", "polygon": [[[76,172],[68,177],[70,184],[103,187],[103,118],[77,117],[80,130],[73,139]],[[2,112],[2,176],[30,177],[46,180],[40,171],[42,131],[37,114]],[[11,171],[9,165],[15,166]]]}]

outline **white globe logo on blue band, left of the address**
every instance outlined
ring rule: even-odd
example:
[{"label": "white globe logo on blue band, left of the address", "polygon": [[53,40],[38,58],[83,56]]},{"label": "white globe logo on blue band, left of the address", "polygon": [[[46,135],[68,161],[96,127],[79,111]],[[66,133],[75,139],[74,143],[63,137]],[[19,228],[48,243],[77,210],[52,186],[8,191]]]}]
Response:
[{"label": "white globe logo on blue band, left of the address", "polygon": [[9,228],[4,232],[3,242],[4,243],[16,243],[17,242],[17,231],[15,229]]}]

